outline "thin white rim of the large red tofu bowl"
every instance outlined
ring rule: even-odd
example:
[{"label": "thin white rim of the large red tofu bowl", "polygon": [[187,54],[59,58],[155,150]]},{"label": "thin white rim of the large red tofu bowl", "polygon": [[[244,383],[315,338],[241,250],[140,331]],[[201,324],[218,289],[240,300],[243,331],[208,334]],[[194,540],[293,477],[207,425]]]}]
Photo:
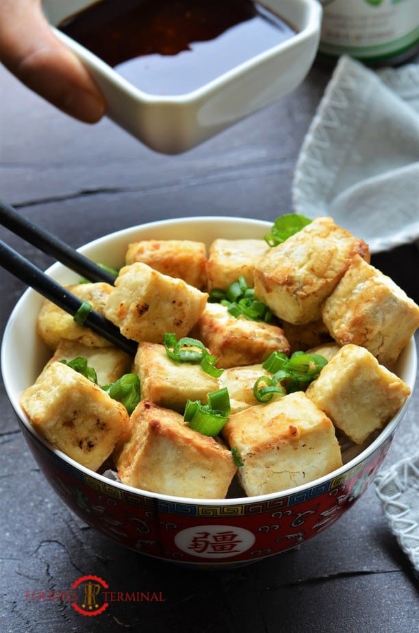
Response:
[{"label": "thin white rim of the large red tofu bowl", "polygon": [[[147,222],[140,225],[136,224],[130,227],[126,227],[124,229],[119,229],[118,231],[115,231],[110,234],[106,234],[104,236],[91,240],[90,242],[86,243],[82,247],[79,247],[79,249],[77,250],[80,251],[81,253],[86,254],[86,251],[94,249],[95,247],[98,247],[98,246],[100,247],[107,241],[112,241],[115,238],[117,239],[124,238],[125,236],[131,235],[133,232],[136,232],[136,231],[142,232],[144,229],[150,230],[155,227],[157,228],[162,227],[162,226],[171,227],[172,225],[181,227],[181,225],[186,225],[186,224],[190,225],[191,223],[199,225],[199,224],[205,224],[208,222],[214,223],[217,225],[222,225],[223,223],[226,223],[226,222],[229,224],[242,225],[244,222],[247,225],[257,227],[261,231],[262,229],[268,229],[272,226],[271,221],[249,219],[249,218],[238,217],[238,216],[229,217],[229,216],[214,215],[214,216],[181,217],[177,219],[166,219],[166,220],[161,220],[161,221],[157,220],[157,221]],[[64,271],[64,269],[66,269],[66,266],[64,266],[63,264],[60,264],[59,262],[55,262],[54,264],[49,266],[49,268],[46,270],[46,273],[54,277],[59,271]],[[355,456],[355,458],[349,460],[348,462],[346,462],[346,464],[343,464],[338,469],[335,469],[334,471],[331,471],[330,473],[327,473],[326,475],[322,475],[322,477],[318,477],[316,480],[310,480],[309,482],[306,482],[305,484],[294,486],[293,488],[287,488],[284,491],[277,491],[275,493],[255,495],[251,497],[244,496],[244,497],[231,497],[231,498],[226,498],[226,499],[223,499],[223,498],[222,499],[203,499],[203,498],[196,498],[196,497],[177,497],[175,495],[153,493],[151,491],[145,491],[142,488],[135,488],[134,486],[128,486],[127,484],[123,484],[122,482],[113,480],[110,477],[105,477],[105,475],[101,475],[97,473],[96,471],[92,471],[88,469],[87,467],[84,467],[82,464],[79,464],[78,462],[73,460],[73,458],[66,456],[66,454],[64,454],[62,451],[53,447],[53,445],[51,445],[47,440],[45,440],[45,438],[43,438],[40,434],[38,434],[38,432],[36,432],[36,430],[31,426],[31,424],[27,420],[18,402],[18,396],[15,397],[15,390],[12,387],[13,381],[10,380],[10,377],[7,372],[6,347],[7,347],[8,338],[10,336],[10,331],[12,329],[12,324],[14,323],[14,321],[16,321],[18,312],[21,311],[21,308],[25,305],[29,297],[33,295],[38,295],[38,293],[36,293],[36,291],[33,290],[32,288],[27,288],[23,292],[23,295],[21,295],[21,297],[18,299],[12,312],[10,313],[8,321],[6,322],[5,330],[3,332],[3,338],[1,341],[0,367],[1,367],[1,374],[3,377],[3,384],[5,386],[5,392],[8,395],[10,405],[12,406],[14,413],[18,417],[18,420],[25,427],[25,430],[29,432],[29,436],[34,436],[56,458],[66,462],[66,464],[68,464],[70,467],[73,467],[73,469],[77,471],[81,471],[81,473],[83,473],[90,479],[92,478],[97,479],[103,484],[106,484],[107,486],[116,486],[116,488],[118,488],[119,490],[125,491],[125,493],[129,493],[130,495],[134,494],[136,496],[148,497],[150,499],[155,499],[155,500],[170,501],[171,503],[175,503],[175,504],[183,504],[183,505],[188,504],[188,505],[199,505],[199,506],[251,505],[251,504],[258,504],[258,503],[262,503],[266,501],[272,501],[274,499],[280,499],[280,498],[291,497],[293,495],[298,495],[299,493],[302,493],[303,491],[307,491],[311,488],[316,488],[318,486],[321,486],[328,480],[335,480],[338,477],[340,477],[340,475],[348,471],[351,471],[352,469],[357,467],[361,462],[368,459],[374,453],[374,451],[376,451],[381,445],[384,445],[385,441],[388,440],[388,438],[390,438],[392,434],[394,434],[396,427],[398,426],[401,419],[403,418],[403,415],[405,414],[407,406],[409,405],[409,401],[411,399],[411,395],[413,393],[414,386],[415,386],[416,373],[417,373],[417,368],[418,368],[418,354],[416,351],[415,339],[414,339],[414,336],[412,336],[411,339],[409,340],[409,343],[407,344],[405,349],[402,351],[401,357],[400,357],[401,360],[403,360],[403,358],[409,357],[409,360],[411,363],[410,371],[409,371],[409,382],[407,382],[407,385],[409,386],[411,393],[407,397],[405,404],[403,404],[402,408],[396,413],[396,415],[384,427],[384,429],[381,430],[377,438],[374,438],[374,440],[372,440],[372,442],[364,450],[362,450],[357,456]]]}]

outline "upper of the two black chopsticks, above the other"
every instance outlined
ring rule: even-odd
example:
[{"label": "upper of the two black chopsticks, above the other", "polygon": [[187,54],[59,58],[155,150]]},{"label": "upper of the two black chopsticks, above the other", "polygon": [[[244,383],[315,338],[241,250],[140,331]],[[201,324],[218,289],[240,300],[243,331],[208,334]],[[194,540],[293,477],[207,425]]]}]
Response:
[{"label": "upper of the two black chopsticks, above the other", "polygon": [[23,238],[42,252],[47,253],[47,255],[54,257],[90,282],[114,284],[115,277],[112,273],[101,269],[92,260],[81,255],[81,253],[60,240],[60,238],[30,222],[10,204],[1,200],[0,222],[6,229],[9,229],[12,233]]}]

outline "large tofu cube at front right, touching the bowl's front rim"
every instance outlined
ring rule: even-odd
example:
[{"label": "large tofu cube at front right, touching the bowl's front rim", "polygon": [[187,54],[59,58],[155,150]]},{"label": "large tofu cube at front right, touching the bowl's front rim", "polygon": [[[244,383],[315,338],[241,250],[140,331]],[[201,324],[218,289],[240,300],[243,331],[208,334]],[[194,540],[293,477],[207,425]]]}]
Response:
[{"label": "large tofu cube at front right, touching the bowl's front rim", "polygon": [[266,495],[306,484],[342,466],[329,418],[298,391],[231,415],[223,429],[243,466],[247,495]]}]

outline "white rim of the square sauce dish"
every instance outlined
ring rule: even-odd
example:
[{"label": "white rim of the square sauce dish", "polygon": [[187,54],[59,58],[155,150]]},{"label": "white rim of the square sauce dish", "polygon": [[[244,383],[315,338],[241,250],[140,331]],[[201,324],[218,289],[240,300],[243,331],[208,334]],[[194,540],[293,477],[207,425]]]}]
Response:
[{"label": "white rim of the square sauce dish", "polygon": [[112,66],[109,66],[109,64],[107,64],[97,55],[86,49],[86,47],[80,45],[79,42],[62,33],[52,23],[49,22],[49,24],[55,36],[62,40],[62,42],[64,42],[64,44],[66,44],[68,47],[70,47],[73,52],[75,52],[79,56],[79,58],[81,58],[81,60],[86,62],[86,64],[88,64],[90,68],[95,69],[95,71],[99,72],[104,78],[107,79],[108,82],[123,90],[123,92],[125,92],[131,98],[149,105],[153,104],[185,106],[195,105],[196,103],[201,101],[201,99],[205,99],[205,97],[212,95],[215,90],[223,89],[235,79],[240,79],[246,73],[255,69],[256,66],[272,60],[272,58],[275,58],[279,53],[290,51],[295,47],[299,47],[299,45],[305,42],[305,40],[308,40],[312,37],[317,37],[320,33],[320,19],[322,16],[322,6],[320,5],[320,2],[316,0],[292,0],[292,2],[298,2],[301,7],[305,7],[308,12],[305,27],[303,27],[299,32],[292,36],[292,38],[283,42],[279,42],[278,45],[270,47],[269,49],[266,49],[265,51],[254,55],[249,60],[245,60],[237,66],[234,66],[232,69],[225,71],[225,73],[222,73],[218,77],[215,77],[203,86],[199,86],[194,90],[184,92],[180,95],[157,95],[151,92],[144,92],[140,88],[134,86],[134,84],[131,84],[131,82],[129,82],[127,79],[119,75],[117,71],[112,68]]}]

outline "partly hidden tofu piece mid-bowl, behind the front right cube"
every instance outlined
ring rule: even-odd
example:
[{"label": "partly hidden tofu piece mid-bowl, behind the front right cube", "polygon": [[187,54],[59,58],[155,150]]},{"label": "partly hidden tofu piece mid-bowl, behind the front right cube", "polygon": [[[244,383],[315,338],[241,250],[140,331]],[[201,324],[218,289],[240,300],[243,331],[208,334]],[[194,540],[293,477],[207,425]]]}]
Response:
[{"label": "partly hidden tofu piece mid-bowl, behind the front right cube", "polygon": [[225,369],[218,378],[218,384],[220,388],[227,387],[229,390],[231,413],[259,404],[253,393],[253,386],[259,377],[270,375],[272,374],[262,367],[262,363]]}]

